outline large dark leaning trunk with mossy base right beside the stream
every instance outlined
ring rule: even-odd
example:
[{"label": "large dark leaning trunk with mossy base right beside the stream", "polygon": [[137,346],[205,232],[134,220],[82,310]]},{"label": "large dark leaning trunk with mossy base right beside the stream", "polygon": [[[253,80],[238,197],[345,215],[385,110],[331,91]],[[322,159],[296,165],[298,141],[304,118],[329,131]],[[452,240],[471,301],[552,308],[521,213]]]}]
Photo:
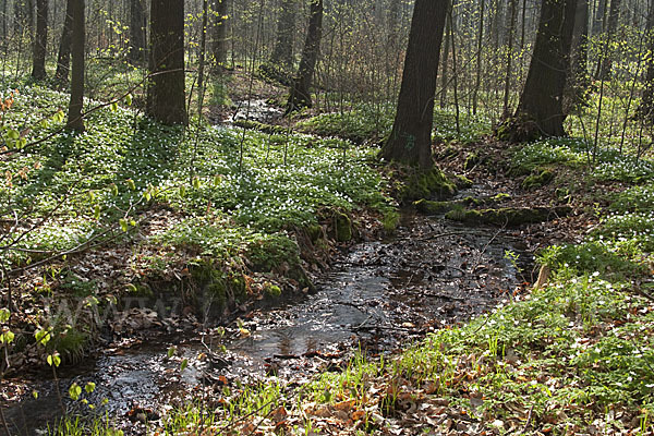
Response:
[{"label": "large dark leaning trunk with mossy base right beside the stream", "polygon": [[447,0],[416,0],[392,131],[382,148],[388,160],[431,169],[434,95]]}]

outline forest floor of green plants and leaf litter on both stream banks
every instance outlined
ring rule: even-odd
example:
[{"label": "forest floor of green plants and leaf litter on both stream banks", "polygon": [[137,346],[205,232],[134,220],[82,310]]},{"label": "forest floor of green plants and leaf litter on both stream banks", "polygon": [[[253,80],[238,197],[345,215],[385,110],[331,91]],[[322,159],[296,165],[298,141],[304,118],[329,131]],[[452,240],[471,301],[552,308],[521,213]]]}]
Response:
[{"label": "forest floor of green plants and leaf litter on both stream banks", "polygon": [[[29,144],[58,132],[51,108],[65,95],[16,87],[3,135]],[[261,100],[275,97],[261,87]],[[305,113],[293,133],[270,130],[274,114],[263,112],[247,130],[181,132],[107,107],[83,135],[2,152],[0,261],[13,300],[2,311],[3,375],[302,295],[339,244],[392,231],[400,172],[383,170],[371,146],[390,125],[386,109]],[[654,165],[606,147],[590,166],[580,140],[514,146],[488,136],[480,118],[464,117],[458,131],[449,112],[435,122],[437,162],[470,196],[405,206],[512,227],[547,266],[540,287],[525,271],[508,304],[396,354],[358,354],[301,386],[205,387],[203,400],[153,422],[153,434],[654,431]],[[522,215],[538,208],[544,218]],[[29,391],[3,384],[2,393]],[[90,432],[65,425],[60,434]]]}]

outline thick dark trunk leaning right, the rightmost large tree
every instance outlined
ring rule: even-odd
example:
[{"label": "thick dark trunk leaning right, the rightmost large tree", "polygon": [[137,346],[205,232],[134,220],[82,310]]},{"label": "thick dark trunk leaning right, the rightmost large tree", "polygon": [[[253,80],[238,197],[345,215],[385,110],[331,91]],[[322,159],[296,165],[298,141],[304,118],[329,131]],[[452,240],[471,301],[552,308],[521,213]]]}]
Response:
[{"label": "thick dark trunk leaning right, the rightmost large tree", "polygon": [[562,98],[576,9],[576,0],[543,0],[526,83],[506,132],[512,141],[566,133]]}]

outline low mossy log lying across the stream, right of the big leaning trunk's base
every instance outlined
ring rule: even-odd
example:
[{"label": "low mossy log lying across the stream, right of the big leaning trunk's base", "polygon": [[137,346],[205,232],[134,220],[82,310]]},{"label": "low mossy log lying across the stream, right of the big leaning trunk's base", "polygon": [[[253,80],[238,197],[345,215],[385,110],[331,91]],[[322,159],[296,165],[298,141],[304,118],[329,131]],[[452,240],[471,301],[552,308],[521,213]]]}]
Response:
[{"label": "low mossy log lying across the stream, right of the big leaning trunk's base", "polygon": [[522,225],[549,221],[570,214],[571,207],[505,207],[499,209],[453,209],[445,215],[452,221],[472,225],[491,223],[517,227]]}]

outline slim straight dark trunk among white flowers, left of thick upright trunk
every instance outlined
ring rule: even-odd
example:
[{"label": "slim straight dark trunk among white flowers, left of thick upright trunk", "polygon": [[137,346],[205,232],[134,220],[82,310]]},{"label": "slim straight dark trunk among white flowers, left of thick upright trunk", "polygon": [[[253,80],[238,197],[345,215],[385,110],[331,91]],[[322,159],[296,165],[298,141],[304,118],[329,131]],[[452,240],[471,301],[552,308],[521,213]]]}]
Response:
[{"label": "slim straight dark trunk among white flowers, left of thick upright trunk", "polygon": [[86,39],[84,0],[71,0],[72,9],[72,73],[71,102],[69,105],[68,126],[84,132],[82,108],[84,104],[84,45]]}]

